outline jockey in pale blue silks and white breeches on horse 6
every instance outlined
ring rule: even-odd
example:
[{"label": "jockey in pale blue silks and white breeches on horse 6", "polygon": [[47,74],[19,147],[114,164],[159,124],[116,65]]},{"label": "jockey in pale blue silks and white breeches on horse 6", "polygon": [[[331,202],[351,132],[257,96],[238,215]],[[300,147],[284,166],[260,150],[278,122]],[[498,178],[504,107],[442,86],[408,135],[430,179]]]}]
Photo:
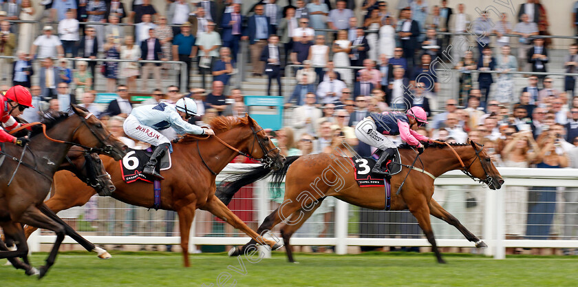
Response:
[{"label": "jockey in pale blue silks and white breeches on horse 6", "polygon": [[170,149],[171,140],[159,131],[172,127],[177,134],[208,136],[215,134],[213,129],[204,129],[187,123],[191,116],[197,116],[197,104],[191,98],[181,98],[174,106],[158,103],[158,105],[141,105],[132,110],[122,125],[125,134],[155,147],[149,162],[144,164],[142,173],[164,180],[156,167],[164,153]]}]

